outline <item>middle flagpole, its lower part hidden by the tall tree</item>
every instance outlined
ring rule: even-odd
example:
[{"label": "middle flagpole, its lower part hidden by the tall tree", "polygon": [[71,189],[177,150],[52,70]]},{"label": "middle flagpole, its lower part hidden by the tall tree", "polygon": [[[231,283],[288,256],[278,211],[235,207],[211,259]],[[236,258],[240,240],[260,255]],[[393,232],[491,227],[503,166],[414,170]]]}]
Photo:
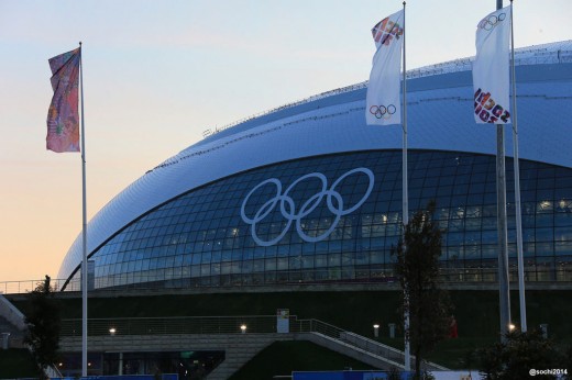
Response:
[{"label": "middle flagpole, its lower part hidden by the tall tree", "polygon": [[[402,178],[403,178],[403,223],[404,223],[404,245],[405,245],[405,228],[407,224],[409,224],[409,203],[408,203],[408,192],[407,192],[407,85],[405,80],[405,72],[406,72],[406,63],[405,63],[405,5],[406,2],[404,1],[404,72],[403,72],[403,97],[404,97],[404,108],[403,108],[403,169],[402,169]],[[404,342],[404,355],[405,355],[405,370],[408,371],[411,368],[411,358],[410,358],[410,349],[409,349],[409,300],[406,299],[405,302],[407,303],[407,306],[405,308],[405,315],[404,315],[404,327],[405,327],[405,342]]]}]

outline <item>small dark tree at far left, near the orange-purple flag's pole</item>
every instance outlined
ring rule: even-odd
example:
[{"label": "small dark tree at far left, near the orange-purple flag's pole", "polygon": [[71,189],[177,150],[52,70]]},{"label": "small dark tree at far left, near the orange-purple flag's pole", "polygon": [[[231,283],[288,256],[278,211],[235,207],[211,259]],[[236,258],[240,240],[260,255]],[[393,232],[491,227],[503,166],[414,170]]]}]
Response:
[{"label": "small dark tree at far left, near the orange-purple flag's pole", "polygon": [[46,379],[45,369],[57,361],[59,349],[59,306],[54,300],[50,276],[31,292],[30,309],[25,317],[28,334],[24,343],[32,348],[38,376]]}]

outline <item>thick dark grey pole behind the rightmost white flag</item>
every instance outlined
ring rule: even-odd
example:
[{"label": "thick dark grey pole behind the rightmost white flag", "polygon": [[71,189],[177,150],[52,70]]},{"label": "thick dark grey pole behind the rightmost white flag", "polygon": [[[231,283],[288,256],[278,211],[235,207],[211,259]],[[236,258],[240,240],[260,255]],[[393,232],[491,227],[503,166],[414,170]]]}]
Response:
[{"label": "thick dark grey pole behind the rightmost white flag", "polygon": [[[503,0],[496,0],[496,9],[503,9]],[[508,247],[506,225],[506,168],[505,130],[496,124],[496,208],[498,234],[498,303],[501,339],[505,342],[510,325],[510,289],[508,283]]]}]

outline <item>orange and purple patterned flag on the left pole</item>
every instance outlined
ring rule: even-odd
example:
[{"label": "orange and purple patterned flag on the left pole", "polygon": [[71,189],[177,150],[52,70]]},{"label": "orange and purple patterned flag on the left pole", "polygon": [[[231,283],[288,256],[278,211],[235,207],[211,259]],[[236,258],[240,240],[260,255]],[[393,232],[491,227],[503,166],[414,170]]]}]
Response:
[{"label": "orange and purple patterned flag on the left pole", "polygon": [[47,111],[46,148],[79,152],[78,79],[81,48],[51,58],[54,96]]}]

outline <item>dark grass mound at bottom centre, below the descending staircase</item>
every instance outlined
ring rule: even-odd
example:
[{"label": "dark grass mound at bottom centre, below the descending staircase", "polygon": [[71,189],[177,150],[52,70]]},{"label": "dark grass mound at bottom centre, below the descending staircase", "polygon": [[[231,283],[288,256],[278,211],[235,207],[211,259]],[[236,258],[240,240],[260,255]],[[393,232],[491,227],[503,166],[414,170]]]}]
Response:
[{"label": "dark grass mound at bottom centre, below the descending staircase", "polygon": [[311,342],[275,342],[252,358],[230,380],[265,380],[277,375],[292,375],[292,371],[326,371],[346,368],[372,369],[366,364]]}]

